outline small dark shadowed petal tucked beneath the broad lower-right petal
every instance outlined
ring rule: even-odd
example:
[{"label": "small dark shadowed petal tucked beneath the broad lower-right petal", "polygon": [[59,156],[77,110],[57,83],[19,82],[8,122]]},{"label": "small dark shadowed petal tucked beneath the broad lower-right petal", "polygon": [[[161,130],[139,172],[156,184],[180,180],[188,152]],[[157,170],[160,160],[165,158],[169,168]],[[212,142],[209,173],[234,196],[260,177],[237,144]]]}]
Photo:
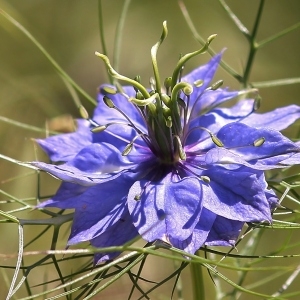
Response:
[{"label": "small dark shadowed petal tucked beneath the broad lower-right petal", "polygon": [[217,216],[212,229],[207,237],[207,246],[234,246],[238,239],[244,222],[229,220]]}]

